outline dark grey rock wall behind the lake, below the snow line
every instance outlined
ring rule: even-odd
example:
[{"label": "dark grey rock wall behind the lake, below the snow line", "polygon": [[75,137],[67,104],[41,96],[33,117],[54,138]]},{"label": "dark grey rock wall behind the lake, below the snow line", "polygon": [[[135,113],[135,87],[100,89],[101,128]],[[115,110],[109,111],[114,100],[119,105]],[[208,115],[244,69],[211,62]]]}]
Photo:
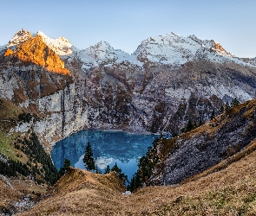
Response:
[{"label": "dark grey rock wall behind the lake, below the snow line", "polygon": [[235,63],[197,60],[182,67],[152,62],[144,67],[127,62],[90,70],[78,67],[75,91],[88,105],[89,127],[94,128],[179,134],[189,119],[197,124],[207,121],[213,111],[220,114],[226,102],[233,98],[244,102],[256,92],[255,68]]}]

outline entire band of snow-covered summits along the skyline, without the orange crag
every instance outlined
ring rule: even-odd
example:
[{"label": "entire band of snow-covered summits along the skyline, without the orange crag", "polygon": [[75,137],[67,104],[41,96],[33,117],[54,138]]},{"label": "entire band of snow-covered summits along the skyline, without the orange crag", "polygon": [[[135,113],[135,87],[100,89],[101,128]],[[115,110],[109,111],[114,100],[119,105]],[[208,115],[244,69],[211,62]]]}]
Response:
[{"label": "entire band of snow-covered summits along the skyline, without the orange crag", "polygon": [[139,67],[143,67],[146,62],[181,67],[190,60],[207,60],[217,63],[234,62],[243,66],[255,67],[254,60],[240,59],[228,53],[217,41],[201,40],[196,35],[184,37],[173,32],[141,41],[133,54],[115,49],[106,41],[99,41],[86,49],[78,49],[72,47],[72,44],[64,37],[51,39],[41,31],[31,35],[24,29],[14,35],[9,41],[8,47],[16,48],[17,44],[28,41],[36,35],[40,35],[43,42],[62,59],[68,56],[78,57],[82,60],[82,68],[86,69],[98,67],[101,64],[109,67],[123,61]]}]

